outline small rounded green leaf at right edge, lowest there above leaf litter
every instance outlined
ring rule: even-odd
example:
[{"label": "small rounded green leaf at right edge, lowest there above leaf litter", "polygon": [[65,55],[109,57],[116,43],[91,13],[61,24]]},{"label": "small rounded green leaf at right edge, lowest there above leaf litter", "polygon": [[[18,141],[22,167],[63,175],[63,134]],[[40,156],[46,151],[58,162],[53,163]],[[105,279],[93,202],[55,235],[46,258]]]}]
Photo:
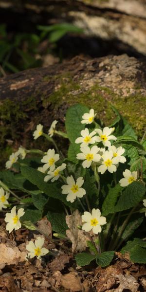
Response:
[{"label": "small rounded green leaf at right edge, lowest there above leaf litter", "polygon": [[135,245],[130,250],[131,261],[139,264],[146,264],[146,248]]}]

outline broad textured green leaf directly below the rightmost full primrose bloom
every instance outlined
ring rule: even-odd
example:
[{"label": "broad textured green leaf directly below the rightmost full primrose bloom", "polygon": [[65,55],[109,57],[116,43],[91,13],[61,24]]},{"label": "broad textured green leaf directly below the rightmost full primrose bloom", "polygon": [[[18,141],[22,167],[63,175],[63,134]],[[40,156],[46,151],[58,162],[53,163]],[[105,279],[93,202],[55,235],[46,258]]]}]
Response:
[{"label": "broad textured green leaf directly below the rightmost full primrose bloom", "polygon": [[129,184],[120,196],[115,206],[115,212],[128,210],[136,206],[142,201],[145,191],[146,188],[141,182],[133,182]]}]

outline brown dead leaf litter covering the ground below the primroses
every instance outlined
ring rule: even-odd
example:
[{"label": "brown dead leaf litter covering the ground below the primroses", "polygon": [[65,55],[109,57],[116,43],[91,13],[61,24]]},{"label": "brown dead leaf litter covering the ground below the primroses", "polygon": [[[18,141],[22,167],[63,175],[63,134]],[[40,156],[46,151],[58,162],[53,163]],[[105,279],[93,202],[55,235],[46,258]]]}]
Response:
[{"label": "brown dead leaf litter covering the ground below the primroses", "polygon": [[[73,253],[86,249],[86,234],[73,225],[80,224],[76,210],[66,217],[69,227],[67,236],[52,240],[52,227],[48,219],[37,222],[38,228],[46,234],[44,246],[50,253],[42,262],[33,258],[26,261],[26,244],[39,236],[38,232],[19,229],[7,233],[4,222],[0,226],[0,291],[5,292],[143,292],[146,291],[145,265],[133,264],[128,254],[115,253],[112,264],[107,268],[90,265],[87,269],[78,267]],[[41,235],[43,237],[43,235]]]}]

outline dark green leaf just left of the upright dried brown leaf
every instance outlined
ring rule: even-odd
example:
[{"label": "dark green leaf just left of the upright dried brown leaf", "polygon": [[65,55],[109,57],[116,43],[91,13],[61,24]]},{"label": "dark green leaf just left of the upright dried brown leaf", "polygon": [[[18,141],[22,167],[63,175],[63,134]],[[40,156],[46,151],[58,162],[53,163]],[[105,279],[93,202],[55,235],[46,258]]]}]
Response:
[{"label": "dark green leaf just left of the upright dried brown leaf", "polygon": [[66,234],[66,230],[69,228],[66,224],[65,214],[48,212],[46,217],[51,222],[53,231]]}]

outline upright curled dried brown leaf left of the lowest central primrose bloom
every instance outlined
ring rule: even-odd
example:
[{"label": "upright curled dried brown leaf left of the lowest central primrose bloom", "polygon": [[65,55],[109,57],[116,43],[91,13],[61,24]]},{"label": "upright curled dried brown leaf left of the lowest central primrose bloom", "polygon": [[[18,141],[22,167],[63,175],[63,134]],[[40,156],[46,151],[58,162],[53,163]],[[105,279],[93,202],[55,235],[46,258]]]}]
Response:
[{"label": "upright curled dried brown leaf left of the lowest central primrose bloom", "polygon": [[72,241],[73,253],[85,251],[87,247],[86,241],[89,240],[89,237],[83,230],[77,228],[78,225],[82,225],[82,218],[79,211],[75,210],[73,215],[66,216],[66,223],[69,227],[69,229],[66,230],[66,235]]}]

